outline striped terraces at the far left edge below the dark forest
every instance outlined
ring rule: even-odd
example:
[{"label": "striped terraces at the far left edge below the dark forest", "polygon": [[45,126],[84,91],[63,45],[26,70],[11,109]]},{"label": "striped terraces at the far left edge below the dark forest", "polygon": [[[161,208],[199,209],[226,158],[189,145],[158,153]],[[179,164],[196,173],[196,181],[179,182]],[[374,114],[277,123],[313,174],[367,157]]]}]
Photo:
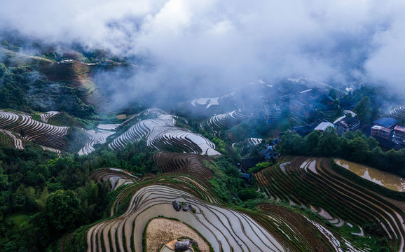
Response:
[{"label": "striped terraces at the far left edge below the dark forest", "polygon": [[24,113],[0,111],[0,129],[22,135],[23,139],[33,141],[41,146],[64,150],[63,140],[69,127],[58,127],[41,123]]}]

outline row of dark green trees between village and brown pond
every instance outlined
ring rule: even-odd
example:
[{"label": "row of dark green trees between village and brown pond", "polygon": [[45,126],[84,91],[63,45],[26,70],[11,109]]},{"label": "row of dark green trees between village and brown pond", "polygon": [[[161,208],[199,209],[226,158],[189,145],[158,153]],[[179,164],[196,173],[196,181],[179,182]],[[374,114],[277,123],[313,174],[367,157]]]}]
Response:
[{"label": "row of dark green trees between village and brown pond", "polygon": [[280,152],[282,155],[343,158],[405,176],[405,149],[383,152],[376,139],[367,138],[359,131],[346,132],[342,137],[338,137],[334,127],[328,127],[322,133],[315,130],[306,137],[285,132]]}]

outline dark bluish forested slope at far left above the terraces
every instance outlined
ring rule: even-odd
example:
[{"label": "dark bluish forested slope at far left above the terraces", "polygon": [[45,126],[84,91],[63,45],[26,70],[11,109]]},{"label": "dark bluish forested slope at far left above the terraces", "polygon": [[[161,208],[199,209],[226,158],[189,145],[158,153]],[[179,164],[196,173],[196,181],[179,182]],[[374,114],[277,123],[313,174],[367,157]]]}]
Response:
[{"label": "dark bluish forested slope at far left above the terraces", "polygon": [[32,111],[66,111],[90,118],[92,106],[81,100],[80,91],[65,83],[50,82],[36,66],[6,67],[0,63],[0,108]]}]

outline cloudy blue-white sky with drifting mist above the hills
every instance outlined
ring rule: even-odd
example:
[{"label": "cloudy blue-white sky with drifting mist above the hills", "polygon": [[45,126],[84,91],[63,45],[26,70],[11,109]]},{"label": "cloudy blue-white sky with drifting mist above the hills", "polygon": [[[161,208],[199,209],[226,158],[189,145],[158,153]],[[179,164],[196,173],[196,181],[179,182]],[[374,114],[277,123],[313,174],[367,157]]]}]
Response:
[{"label": "cloudy blue-white sky with drifting mist above the hills", "polygon": [[13,0],[0,29],[150,59],[153,71],[120,81],[127,95],[298,76],[404,90],[404,13],[403,0]]}]

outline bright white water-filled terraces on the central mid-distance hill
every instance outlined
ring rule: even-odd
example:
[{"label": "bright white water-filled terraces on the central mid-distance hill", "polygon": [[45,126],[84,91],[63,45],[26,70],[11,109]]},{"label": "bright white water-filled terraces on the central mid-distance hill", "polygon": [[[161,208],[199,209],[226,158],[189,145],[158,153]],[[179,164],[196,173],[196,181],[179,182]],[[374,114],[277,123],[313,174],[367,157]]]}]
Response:
[{"label": "bright white water-filled terraces on the central mid-distance hill", "polygon": [[[129,142],[145,138],[147,145],[159,151],[200,153],[203,155],[221,155],[215,151],[215,145],[200,134],[176,127],[175,117],[159,110],[145,111],[151,119],[139,120],[127,131],[116,137],[109,147],[116,150],[124,148]],[[135,117],[137,118],[137,117]],[[136,121],[130,118],[128,123]],[[124,122],[125,123],[125,122]]]}]

